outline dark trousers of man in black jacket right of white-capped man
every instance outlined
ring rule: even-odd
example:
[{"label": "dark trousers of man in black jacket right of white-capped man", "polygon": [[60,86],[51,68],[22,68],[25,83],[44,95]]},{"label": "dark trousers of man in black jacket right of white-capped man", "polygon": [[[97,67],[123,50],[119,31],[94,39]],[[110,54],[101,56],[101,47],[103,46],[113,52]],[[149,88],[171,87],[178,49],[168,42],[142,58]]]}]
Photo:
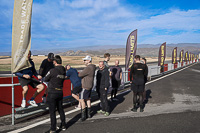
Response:
[{"label": "dark trousers of man in black jacket right of white-capped man", "polygon": [[109,112],[107,91],[105,90],[105,88],[100,88],[99,91],[100,91],[100,101],[101,101],[102,111]]}]

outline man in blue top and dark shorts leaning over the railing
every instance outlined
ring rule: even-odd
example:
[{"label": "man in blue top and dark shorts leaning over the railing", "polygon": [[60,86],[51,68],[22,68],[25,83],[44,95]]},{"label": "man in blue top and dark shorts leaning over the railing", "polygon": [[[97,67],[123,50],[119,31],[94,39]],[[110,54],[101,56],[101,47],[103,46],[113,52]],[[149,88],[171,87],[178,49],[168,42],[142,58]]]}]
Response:
[{"label": "man in blue top and dark shorts leaning over the railing", "polygon": [[69,64],[65,66],[65,69],[67,71],[66,78],[69,78],[73,85],[72,96],[79,102],[79,93],[82,91],[81,78],[78,77],[77,70],[72,68]]}]

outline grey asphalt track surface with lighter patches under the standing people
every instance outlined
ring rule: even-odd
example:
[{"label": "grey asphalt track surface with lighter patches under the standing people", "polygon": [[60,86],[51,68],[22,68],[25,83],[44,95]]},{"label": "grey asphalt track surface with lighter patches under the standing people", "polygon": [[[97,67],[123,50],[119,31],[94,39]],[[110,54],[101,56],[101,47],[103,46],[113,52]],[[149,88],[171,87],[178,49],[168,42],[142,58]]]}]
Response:
[{"label": "grey asphalt track surface with lighter patches under the standing people", "polygon": [[[68,128],[62,132],[200,133],[199,80],[200,64],[195,64],[147,83],[147,101],[142,113],[131,112],[133,105],[130,90],[118,95],[119,101],[109,102],[111,115],[108,117],[97,114],[99,105],[94,104],[93,117],[80,122],[80,110],[76,111],[74,107],[66,108]],[[3,125],[0,126],[0,131],[17,132],[23,129],[24,133],[48,132],[50,128],[50,122],[46,120],[48,118],[49,114],[46,114],[21,121],[15,126]],[[41,123],[37,124],[38,122]]]}]

